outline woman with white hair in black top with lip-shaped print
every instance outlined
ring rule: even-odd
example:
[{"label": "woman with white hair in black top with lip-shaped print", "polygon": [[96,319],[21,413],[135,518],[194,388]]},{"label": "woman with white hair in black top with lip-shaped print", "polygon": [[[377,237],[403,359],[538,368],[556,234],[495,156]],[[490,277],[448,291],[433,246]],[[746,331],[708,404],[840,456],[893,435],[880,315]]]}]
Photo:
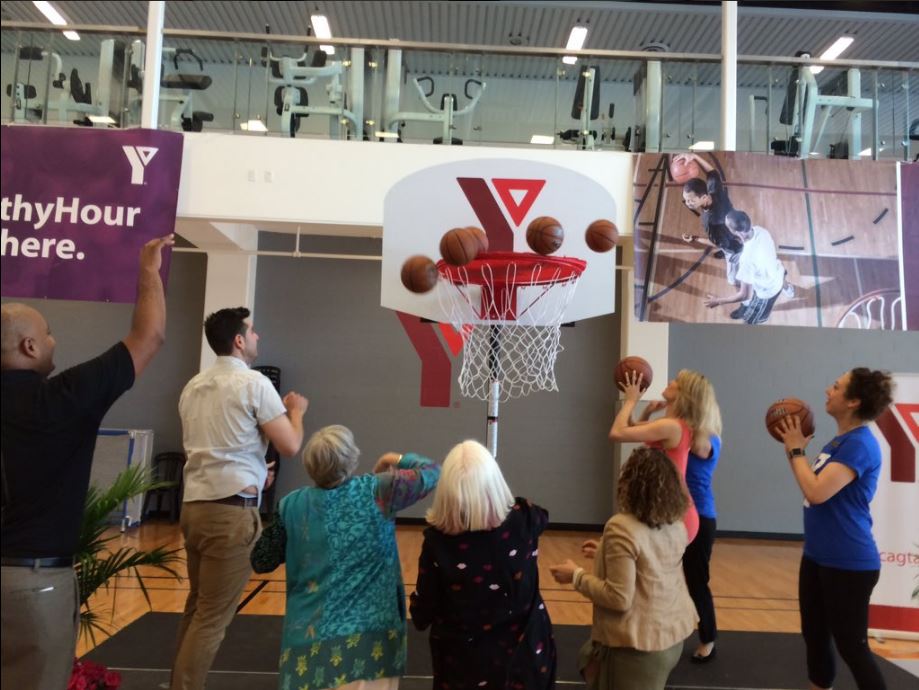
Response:
[{"label": "woman with white hair in black top with lip-shaped print", "polygon": [[447,455],[410,605],[415,627],[431,628],[433,687],[555,687],[536,561],[548,519],[513,497],[480,443],[464,441]]}]

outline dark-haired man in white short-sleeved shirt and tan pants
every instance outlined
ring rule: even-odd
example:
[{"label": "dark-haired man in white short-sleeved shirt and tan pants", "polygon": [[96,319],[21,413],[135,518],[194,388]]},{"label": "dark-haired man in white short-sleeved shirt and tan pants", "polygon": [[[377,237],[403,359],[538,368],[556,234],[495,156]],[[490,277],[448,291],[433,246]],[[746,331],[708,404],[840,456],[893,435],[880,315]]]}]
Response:
[{"label": "dark-haired man in white short-sleeved shirt and tan pants", "polygon": [[258,503],[268,476],[268,442],[287,456],[303,443],[308,402],[294,392],[282,400],[268,377],[249,368],[259,337],[248,317],[245,307],[207,317],[204,333],[217,361],[192,378],[179,398],[187,457],[181,526],[190,591],[172,690],[204,687],[252,575],[249,554],[261,533]]}]

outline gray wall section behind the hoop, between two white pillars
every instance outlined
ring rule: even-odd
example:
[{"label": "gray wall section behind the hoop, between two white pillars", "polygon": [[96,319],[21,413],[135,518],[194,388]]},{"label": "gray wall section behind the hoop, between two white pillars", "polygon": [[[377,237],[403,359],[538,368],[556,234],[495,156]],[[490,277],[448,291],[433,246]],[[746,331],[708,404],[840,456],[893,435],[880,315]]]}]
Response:
[{"label": "gray wall section behind the hoop, between two white pillars", "polygon": [[[292,242],[289,235],[262,233],[260,248],[289,250]],[[307,244],[301,243],[304,251],[380,252],[375,240]],[[452,407],[419,406],[420,361],[396,314],[379,306],[378,262],[262,257],[255,302],[259,363],[280,367],[282,389],[310,399],[308,434],[336,423],[354,431],[362,470],[388,450],[440,461],[463,439],[484,442],[485,403],[454,390]],[[502,404],[499,459],[511,490],[545,506],[553,522],[602,523],[612,512],[606,431],[618,317],[565,328],[562,343],[560,391]],[[286,461],[278,495],[308,482],[299,462]],[[426,505],[405,515],[421,516]]]}]

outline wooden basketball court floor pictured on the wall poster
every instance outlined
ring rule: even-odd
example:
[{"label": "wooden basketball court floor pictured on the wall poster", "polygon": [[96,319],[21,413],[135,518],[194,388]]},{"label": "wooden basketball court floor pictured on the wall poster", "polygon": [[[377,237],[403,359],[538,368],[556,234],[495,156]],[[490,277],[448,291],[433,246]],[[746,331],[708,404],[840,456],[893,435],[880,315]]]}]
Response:
[{"label": "wooden basketball court floor pictured on the wall poster", "polygon": [[[705,233],[683,205],[682,185],[667,176],[667,160],[645,154],[635,168],[636,309],[648,321],[731,323],[737,305],[702,303],[736,288],[714,250],[681,238]],[[779,297],[768,324],[835,327],[863,295],[899,290],[894,164],[751,154],[715,160],[734,208],[770,232],[796,289],[794,297]]]}]

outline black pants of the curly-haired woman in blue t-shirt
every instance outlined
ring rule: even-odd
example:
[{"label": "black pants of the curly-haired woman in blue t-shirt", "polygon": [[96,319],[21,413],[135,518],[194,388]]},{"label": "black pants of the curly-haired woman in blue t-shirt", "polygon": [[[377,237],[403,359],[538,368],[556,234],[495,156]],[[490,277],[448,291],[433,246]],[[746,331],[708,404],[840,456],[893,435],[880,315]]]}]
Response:
[{"label": "black pants of the curly-haired woman in blue t-shirt", "polygon": [[868,600],[879,576],[879,570],[840,570],[801,558],[801,633],[807,645],[807,677],[814,685],[833,685],[835,642],[859,690],[887,687],[868,647]]}]

